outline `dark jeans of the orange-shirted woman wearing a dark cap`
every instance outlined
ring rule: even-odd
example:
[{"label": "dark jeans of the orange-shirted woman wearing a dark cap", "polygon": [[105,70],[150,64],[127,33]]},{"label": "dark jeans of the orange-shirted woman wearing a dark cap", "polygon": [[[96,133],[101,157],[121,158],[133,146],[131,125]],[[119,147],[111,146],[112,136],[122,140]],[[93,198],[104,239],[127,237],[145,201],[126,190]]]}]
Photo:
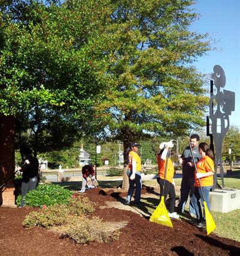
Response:
[{"label": "dark jeans of the orange-shirted woman wearing a dark cap", "polygon": [[142,178],[141,178],[141,172],[136,171],[134,180],[130,180],[130,176],[133,174],[132,171],[128,170],[128,180],[129,180],[129,189],[127,194],[127,201],[131,202],[131,197],[133,195],[134,191],[134,184],[136,184],[136,192],[135,192],[135,200],[134,203],[139,203],[141,198],[141,189],[142,189]]}]

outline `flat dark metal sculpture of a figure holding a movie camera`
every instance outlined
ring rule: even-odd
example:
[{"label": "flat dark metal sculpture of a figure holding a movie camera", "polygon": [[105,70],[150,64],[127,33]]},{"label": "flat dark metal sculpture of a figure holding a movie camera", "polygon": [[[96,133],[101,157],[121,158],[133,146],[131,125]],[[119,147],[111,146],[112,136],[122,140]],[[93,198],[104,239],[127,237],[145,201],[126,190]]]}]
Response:
[{"label": "flat dark metal sculpture of a figure holding a movie camera", "polygon": [[[223,138],[229,130],[229,115],[235,110],[235,93],[232,91],[220,89],[226,85],[226,77],[224,70],[221,66],[214,66],[214,73],[211,78],[211,97],[209,100],[209,119],[207,119],[207,135],[211,138],[210,148],[214,150],[212,139],[215,145],[215,174],[214,174],[214,187],[217,185],[217,167],[220,166],[221,183],[224,187],[223,180],[223,165],[221,160],[221,148]],[[217,93],[214,94],[213,85],[217,88]],[[209,126],[211,125],[211,132],[209,133]]]}]

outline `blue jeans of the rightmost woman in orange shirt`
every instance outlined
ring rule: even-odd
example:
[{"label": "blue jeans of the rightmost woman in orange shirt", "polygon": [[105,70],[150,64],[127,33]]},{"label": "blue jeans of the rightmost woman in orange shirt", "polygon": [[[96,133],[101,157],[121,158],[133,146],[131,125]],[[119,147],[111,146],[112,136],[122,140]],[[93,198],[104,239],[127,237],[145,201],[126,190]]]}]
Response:
[{"label": "blue jeans of the rightmost woman in orange shirt", "polygon": [[[195,187],[195,189],[194,189],[192,201],[193,201],[194,208],[196,210],[197,219],[199,221],[205,220],[205,213],[202,214],[202,209],[201,209],[201,205],[200,205],[200,202],[201,202],[201,204],[203,206],[203,196],[204,196],[204,199],[206,202],[206,206],[208,207],[208,210],[210,212],[209,192],[210,192],[211,188],[212,188],[212,186],[202,187],[202,192],[201,192],[200,187]],[[203,206],[203,209],[204,209],[204,206]],[[205,211],[203,211],[203,212],[205,212]]]}]

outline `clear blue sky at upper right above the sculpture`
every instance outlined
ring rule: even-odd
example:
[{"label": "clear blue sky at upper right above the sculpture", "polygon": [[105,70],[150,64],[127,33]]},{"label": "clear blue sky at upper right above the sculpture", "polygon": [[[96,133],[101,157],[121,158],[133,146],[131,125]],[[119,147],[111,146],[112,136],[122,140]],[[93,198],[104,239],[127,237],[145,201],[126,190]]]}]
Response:
[{"label": "clear blue sky at upper right above the sculpture", "polygon": [[224,90],[235,92],[235,111],[230,115],[230,125],[240,128],[240,0],[197,0],[194,9],[200,18],[191,29],[208,32],[216,41],[212,46],[218,49],[199,57],[195,66],[205,74],[213,73],[215,65],[223,68]]}]

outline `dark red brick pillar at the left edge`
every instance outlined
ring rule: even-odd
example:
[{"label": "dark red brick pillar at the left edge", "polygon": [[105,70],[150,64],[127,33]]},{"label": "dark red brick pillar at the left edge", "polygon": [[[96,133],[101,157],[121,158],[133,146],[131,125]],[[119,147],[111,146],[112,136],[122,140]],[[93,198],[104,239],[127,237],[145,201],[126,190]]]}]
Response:
[{"label": "dark red brick pillar at the left edge", "polygon": [[[15,121],[0,114],[0,206],[16,207],[14,196]],[[2,186],[3,185],[3,186]]]}]

